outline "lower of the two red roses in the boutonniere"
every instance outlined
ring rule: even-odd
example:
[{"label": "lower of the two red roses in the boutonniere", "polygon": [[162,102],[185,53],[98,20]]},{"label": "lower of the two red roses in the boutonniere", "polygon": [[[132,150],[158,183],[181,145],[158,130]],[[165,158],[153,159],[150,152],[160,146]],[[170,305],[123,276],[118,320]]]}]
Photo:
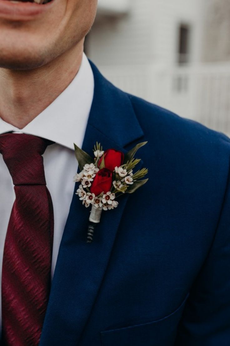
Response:
[{"label": "lower of the two red roses in the boutonniere", "polygon": [[98,196],[99,194],[101,194],[101,192],[107,193],[111,190],[112,181],[112,172],[107,168],[102,168],[96,174],[92,182],[90,192],[94,193],[95,196]]}]

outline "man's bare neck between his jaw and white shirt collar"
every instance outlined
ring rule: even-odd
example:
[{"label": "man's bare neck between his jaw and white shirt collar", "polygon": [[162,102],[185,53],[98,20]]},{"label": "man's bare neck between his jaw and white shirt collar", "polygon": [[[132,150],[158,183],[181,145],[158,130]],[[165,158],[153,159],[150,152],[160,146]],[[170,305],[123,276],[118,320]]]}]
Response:
[{"label": "man's bare neck between his jaw and white shirt collar", "polygon": [[22,129],[67,88],[77,74],[83,43],[35,70],[0,68],[0,117]]}]

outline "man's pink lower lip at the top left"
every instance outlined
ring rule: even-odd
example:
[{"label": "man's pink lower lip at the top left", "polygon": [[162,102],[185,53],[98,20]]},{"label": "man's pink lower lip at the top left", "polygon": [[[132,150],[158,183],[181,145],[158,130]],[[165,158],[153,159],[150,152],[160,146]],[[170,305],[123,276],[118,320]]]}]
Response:
[{"label": "man's pink lower lip at the top left", "polygon": [[35,2],[13,3],[9,0],[0,0],[0,17],[11,20],[29,20],[32,17],[48,11],[57,0],[51,0],[46,4]]}]

